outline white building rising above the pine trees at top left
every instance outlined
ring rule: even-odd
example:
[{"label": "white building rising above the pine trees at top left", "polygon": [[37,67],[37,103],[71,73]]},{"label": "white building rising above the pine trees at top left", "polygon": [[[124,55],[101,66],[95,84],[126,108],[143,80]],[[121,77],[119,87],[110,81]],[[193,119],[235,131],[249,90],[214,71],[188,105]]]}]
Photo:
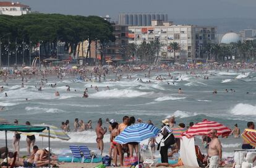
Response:
[{"label": "white building rising above the pine trees at top left", "polygon": [[20,4],[19,2],[0,2],[0,15],[24,15],[30,14],[29,6]]}]

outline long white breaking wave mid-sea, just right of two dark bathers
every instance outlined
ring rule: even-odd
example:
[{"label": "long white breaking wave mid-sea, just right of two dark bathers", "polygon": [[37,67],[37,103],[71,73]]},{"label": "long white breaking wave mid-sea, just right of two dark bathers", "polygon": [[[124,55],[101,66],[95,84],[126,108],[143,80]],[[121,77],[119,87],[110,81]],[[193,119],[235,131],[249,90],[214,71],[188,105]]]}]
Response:
[{"label": "long white breaking wave mid-sea, just right of two dark bathers", "polygon": [[140,91],[130,90],[130,89],[119,90],[115,88],[113,90],[103,90],[97,93],[90,94],[89,97],[90,98],[136,98],[140,96],[145,96],[147,94],[151,94],[151,92],[147,93],[147,92],[140,92]]}]

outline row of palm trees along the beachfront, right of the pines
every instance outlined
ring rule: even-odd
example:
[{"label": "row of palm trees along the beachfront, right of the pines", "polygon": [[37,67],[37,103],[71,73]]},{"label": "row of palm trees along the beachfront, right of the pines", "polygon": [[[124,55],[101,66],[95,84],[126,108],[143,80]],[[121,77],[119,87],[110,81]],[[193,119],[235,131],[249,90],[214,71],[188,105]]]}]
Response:
[{"label": "row of palm trees along the beachfront, right of the pines", "polygon": [[[127,48],[129,56],[137,56],[142,61],[153,61],[161,51],[164,45],[159,40],[143,41],[141,44],[130,43]],[[167,45],[168,52],[173,52],[173,59],[177,61],[176,52],[181,51],[179,43],[172,42]],[[236,60],[249,62],[256,60],[256,40],[244,40],[230,44],[214,44],[207,43],[200,51],[200,58],[208,61],[224,62],[232,60],[234,56]],[[229,59],[228,59],[229,57]]]}]

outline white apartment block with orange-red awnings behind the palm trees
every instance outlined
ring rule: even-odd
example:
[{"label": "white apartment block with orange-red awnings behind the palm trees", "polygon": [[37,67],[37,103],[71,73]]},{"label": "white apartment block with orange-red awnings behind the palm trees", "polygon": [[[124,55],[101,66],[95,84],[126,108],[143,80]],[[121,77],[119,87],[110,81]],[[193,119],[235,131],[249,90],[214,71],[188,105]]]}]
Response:
[{"label": "white apartment block with orange-red awnings behind the palm trees", "polygon": [[202,49],[207,43],[216,43],[215,27],[198,27],[195,25],[173,25],[172,22],[153,20],[151,26],[129,27],[129,43],[141,44],[160,40],[163,44],[160,56],[163,59],[174,57],[174,51],[169,44],[176,42],[180,51],[176,52],[179,59],[193,60],[202,58]]}]

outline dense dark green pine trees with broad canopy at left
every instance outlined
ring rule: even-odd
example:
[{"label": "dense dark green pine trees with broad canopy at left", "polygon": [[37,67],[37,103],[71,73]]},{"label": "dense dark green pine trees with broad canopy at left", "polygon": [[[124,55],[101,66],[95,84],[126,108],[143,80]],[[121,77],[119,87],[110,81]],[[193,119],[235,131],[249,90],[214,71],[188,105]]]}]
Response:
[{"label": "dense dark green pine trees with broad canopy at left", "polygon": [[[58,41],[64,42],[65,51],[74,54],[80,41],[88,40],[86,58],[90,57],[90,44],[100,41],[101,47],[108,41],[114,41],[113,26],[97,16],[61,15],[61,14],[28,14],[20,16],[0,15],[0,41],[2,43],[2,61],[7,60],[7,52],[12,55],[17,44],[26,45],[23,51],[25,60],[31,46],[38,43],[42,46],[44,57],[56,54]],[[9,43],[9,42],[10,43]],[[12,51],[12,52],[10,52]],[[40,50],[41,51],[41,50]],[[14,59],[11,57],[11,59]],[[20,57],[19,57],[20,59]],[[13,60],[12,60],[13,61]]]}]

